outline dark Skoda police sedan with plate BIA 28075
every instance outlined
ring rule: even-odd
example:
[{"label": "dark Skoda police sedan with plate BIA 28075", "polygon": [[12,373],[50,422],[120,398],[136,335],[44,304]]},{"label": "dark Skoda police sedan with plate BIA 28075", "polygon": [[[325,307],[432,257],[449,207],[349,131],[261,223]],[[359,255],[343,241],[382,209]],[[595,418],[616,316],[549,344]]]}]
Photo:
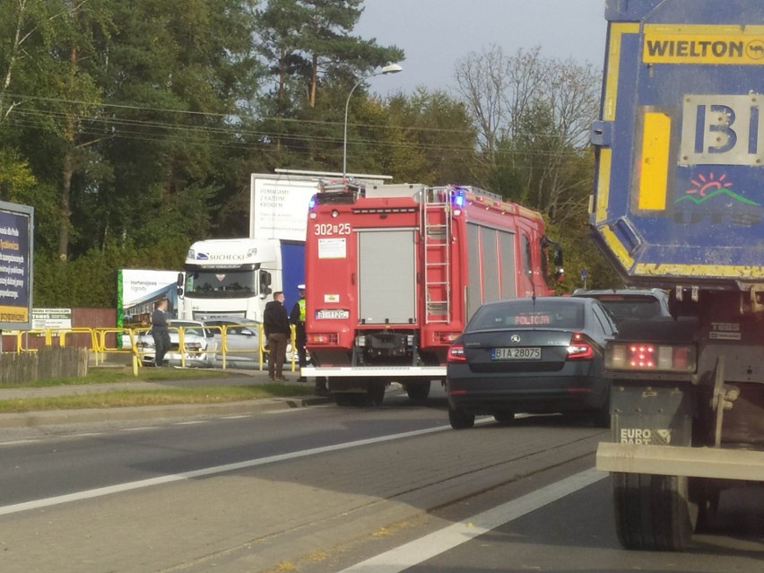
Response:
[{"label": "dark Skoda police sedan with plate BIA 28075", "polygon": [[616,332],[595,299],[539,297],[482,305],[448,351],[448,420],[472,428],[516,412],[589,412],[610,423],[603,348]]}]

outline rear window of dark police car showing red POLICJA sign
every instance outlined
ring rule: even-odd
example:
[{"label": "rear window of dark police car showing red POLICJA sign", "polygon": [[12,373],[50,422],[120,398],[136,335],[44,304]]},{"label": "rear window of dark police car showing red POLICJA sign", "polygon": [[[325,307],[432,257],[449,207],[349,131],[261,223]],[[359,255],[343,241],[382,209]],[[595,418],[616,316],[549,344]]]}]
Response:
[{"label": "rear window of dark police car showing red POLICJA sign", "polygon": [[467,332],[501,328],[581,328],[584,306],[563,301],[508,302],[491,304],[478,309]]}]

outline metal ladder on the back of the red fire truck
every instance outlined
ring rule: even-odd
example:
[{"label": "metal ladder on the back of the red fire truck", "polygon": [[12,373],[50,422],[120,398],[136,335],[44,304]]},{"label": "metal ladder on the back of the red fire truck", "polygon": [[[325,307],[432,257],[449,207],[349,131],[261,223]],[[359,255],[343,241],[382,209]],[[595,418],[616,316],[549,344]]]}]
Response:
[{"label": "metal ladder on the back of the red fire truck", "polygon": [[451,192],[427,189],[420,203],[424,250],[425,324],[448,323],[451,317]]}]

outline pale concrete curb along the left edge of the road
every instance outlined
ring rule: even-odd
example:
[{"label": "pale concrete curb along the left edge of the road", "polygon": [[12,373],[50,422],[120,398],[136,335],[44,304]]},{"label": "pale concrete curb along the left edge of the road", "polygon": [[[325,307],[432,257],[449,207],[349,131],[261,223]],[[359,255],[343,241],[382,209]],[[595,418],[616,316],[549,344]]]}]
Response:
[{"label": "pale concrete curb along the left edge of the road", "polygon": [[169,406],[132,406],[127,408],[4,413],[0,414],[0,428],[33,428],[91,422],[247,414],[273,412],[289,408],[304,408],[330,403],[331,400],[324,396],[305,396],[297,398],[262,398],[248,402],[229,402],[225,404],[178,404]]}]

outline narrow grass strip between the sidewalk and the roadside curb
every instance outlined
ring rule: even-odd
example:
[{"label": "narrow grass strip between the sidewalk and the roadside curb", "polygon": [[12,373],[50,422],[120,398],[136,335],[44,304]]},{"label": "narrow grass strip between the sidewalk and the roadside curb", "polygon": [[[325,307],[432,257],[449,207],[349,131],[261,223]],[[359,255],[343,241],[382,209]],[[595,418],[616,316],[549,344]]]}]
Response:
[{"label": "narrow grass strip between the sidewalk and the roadside curb", "polygon": [[125,408],[172,404],[223,404],[263,398],[304,396],[306,386],[257,384],[252,386],[209,386],[166,388],[160,390],[109,390],[91,394],[13,398],[0,400],[0,413],[38,412],[41,410],[76,410],[88,408]]}]

